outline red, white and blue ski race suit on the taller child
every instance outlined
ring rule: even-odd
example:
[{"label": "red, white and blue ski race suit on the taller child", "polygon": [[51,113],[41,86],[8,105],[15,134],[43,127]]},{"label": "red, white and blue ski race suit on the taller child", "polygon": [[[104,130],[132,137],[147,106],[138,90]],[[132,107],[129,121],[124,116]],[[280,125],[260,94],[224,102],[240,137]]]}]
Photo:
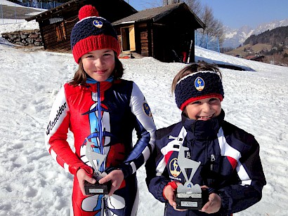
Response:
[{"label": "red, white and blue ski race suit on the taller child", "polygon": [[[138,140],[133,146],[132,131]],[[67,142],[74,135],[74,151]],[[67,172],[74,175],[72,215],[136,215],[138,187],[136,170],[147,161],[155,146],[155,123],[148,103],[133,81],[90,81],[86,85],[60,89],[46,129],[46,148]],[[80,168],[92,175],[86,144],[105,154],[100,172],[121,169],[124,181],[110,197],[84,196],[76,173]]]}]

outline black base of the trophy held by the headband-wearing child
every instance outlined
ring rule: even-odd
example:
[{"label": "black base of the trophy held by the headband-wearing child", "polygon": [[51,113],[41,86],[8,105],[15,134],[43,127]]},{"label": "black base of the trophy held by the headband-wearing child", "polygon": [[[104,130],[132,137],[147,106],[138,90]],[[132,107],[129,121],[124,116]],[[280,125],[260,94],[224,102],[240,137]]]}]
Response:
[{"label": "black base of the trophy held by the headband-wearing child", "polygon": [[189,210],[200,210],[203,205],[208,201],[208,190],[202,190],[202,194],[176,194],[176,208],[178,209],[189,209]]}]

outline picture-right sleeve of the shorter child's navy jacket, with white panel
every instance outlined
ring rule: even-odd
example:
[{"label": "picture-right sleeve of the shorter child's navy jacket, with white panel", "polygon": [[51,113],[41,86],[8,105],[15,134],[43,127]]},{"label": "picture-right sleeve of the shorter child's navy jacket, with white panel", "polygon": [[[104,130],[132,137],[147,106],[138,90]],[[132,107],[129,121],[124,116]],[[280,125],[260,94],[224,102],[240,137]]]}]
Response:
[{"label": "picture-right sleeve of the shorter child's navy jacket, with white panel", "polygon": [[261,200],[266,178],[259,156],[259,144],[254,137],[251,149],[240,158],[236,171],[240,181],[218,189],[222,199],[221,211],[228,214],[247,209]]}]

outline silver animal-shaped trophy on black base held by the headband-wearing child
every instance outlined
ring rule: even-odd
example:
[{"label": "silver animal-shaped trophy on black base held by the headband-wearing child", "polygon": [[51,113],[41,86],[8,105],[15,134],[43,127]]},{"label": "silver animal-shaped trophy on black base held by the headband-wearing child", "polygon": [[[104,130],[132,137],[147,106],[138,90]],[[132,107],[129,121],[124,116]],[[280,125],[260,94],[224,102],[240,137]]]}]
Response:
[{"label": "silver animal-shaped trophy on black base held by the headband-wearing child", "polygon": [[[185,184],[179,184],[176,191],[176,208],[178,209],[192,209],[199,210],[208,201],[208,190],[202,190],[199,184],[192,184],[192,177],[195,175],[197,169],[200,166],[200,161],[192,161],[189,158],[185,158],[185,151],[189,150],[188,147],[183,147],[180,144],[178,154],[178,166],[185,177]],[[188,179],[185,168],[192,169],[191,175]]]}]

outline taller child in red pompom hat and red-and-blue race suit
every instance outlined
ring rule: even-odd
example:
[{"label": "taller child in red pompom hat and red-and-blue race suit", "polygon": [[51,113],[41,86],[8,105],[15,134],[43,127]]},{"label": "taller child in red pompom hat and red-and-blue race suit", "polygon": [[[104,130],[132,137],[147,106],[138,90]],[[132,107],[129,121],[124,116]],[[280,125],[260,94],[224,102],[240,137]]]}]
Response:
[{"label": "taller child in red pompom hat and red-and-blue race suit", "polygon": [[[79,10],[71,46],[79,69],[60,89],[46,128],[46,148],[74,175],[71,215],[136,215],[136,170],[155,146],[150,107],[136,83],[121,79],[117,34],[93,6]],[[68,130],[74,135],[74,151],[67,142]],[[99,183],[112,184],[108,195],[85,194],[84,181],[96,182],[86,148],[105,155],[97,166],[103,176]]]}]

